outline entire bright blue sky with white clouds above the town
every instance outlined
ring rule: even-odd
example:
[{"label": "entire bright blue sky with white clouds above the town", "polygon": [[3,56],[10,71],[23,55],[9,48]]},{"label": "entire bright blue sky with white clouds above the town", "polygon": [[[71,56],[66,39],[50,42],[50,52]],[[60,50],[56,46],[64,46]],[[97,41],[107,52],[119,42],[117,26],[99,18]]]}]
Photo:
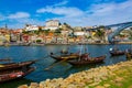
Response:
[{"label": "entire bright blue sky with white clouds above the town", "polygon": [[0,28],[22,29],[59,20],[72,26],[132,21],[132,0],[0,0]]}]

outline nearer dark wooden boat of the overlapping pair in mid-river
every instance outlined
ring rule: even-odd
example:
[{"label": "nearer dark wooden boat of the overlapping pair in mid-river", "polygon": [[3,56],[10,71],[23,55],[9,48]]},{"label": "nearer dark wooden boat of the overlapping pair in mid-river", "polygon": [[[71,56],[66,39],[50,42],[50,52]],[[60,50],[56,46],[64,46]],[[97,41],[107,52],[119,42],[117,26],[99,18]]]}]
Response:
[{"label": "nearer dark wooden boat of the overlapping pair in mid-river", "polygon": [[86,64],[97,64],[103,62],[106,55],[99,57],[89,57],[88,54],[84,54],[79,59],[68,61],[72,65],[86,65]]}]

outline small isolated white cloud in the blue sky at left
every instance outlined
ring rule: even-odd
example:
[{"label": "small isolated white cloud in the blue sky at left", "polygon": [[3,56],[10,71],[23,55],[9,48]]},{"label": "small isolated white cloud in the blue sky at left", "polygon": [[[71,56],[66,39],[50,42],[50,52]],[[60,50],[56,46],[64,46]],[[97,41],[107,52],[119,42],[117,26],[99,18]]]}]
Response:
[{"label": "small isolated white cloud in the blue sky at left", "polygon": [[8,19],[21,19],[21,18],[30,18],[30,13],[28,12],[16,12],[14,14],[10,14]]}]

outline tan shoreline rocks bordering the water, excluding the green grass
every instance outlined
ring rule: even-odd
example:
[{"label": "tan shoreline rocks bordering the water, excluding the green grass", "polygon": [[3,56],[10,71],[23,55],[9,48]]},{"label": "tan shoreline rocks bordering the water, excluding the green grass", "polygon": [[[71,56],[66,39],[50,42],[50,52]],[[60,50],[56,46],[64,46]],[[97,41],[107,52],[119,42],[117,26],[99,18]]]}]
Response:
[{"label": "tan shoreline rocks bordering the water, excluding the green grass", "polygon": [[34,84],[32,82],[29,87],[20,86],[18,88],[109,88],[109,84],[105,84],[101,87],[100,82],[103,80],[108,80],[108,78],[114,78],[114,80],[111,81],[119,84],[119,81],[122,81],[123,78],[117,75],[130,72],[130,69],[132,69],[132,61],[121,62],[111,66],[100,66],[98,68],[91,68],[89,70],[79,72],[69,75],[65,79],[46,79],[45,81],[35,84],[35,86],[33,86]]}]

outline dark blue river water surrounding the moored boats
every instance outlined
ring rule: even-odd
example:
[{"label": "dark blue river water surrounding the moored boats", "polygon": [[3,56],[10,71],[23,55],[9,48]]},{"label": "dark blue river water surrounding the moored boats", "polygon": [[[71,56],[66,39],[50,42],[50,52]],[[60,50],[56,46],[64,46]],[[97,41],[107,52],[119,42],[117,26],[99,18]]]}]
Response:
[{"label": "dark blue river water surrounding the moored boats", "polygon": [[[110,47],[113,47],[113,45],[44,45],[44,46],[10,46],[10,47],[1,46],[0,58],[10,57],[12,58],[12,62],[40,59],[38,62],[36,62],[36,64],[33,65],[36,67],[36,69],[24,77],[25,79],[31,79],[33,81],[38,82],[47,78],[50,79],[58,78],[58,77],[65,78],[68,75],[77,72],[86,70],[86,69],[98,67],[98,66],[107,66],[107,65],[127,61],[125,55],[111,57],[109,54]],[[125,48],[129,48],[130,45],[123,44],[123,45],[118,45],[118,47],[123,51]],[[56,62],[54,58],[48,57],[50,53],[51,52],[56,53],[64,48],[68,48],[68,51],[73,53],[78,51],[82,53],[84,48],[86,48],[87,52],[90,53],[91,57],[107,55],[107,58],[101,64],[74,66],[74,67],[68,63],[63,62],[54,65],[54,67],[51,68],[50,70],[45,70],[45,68],[47,68],[52,64],[55,64]],[[9,82],[14,84],[15,81],[14,82],[9,81]],[[9,84],[9,82],[6,82],[6,84]],[[20,82],[22,82],[22,80]],[[0,88],[1,87],[2,85],[0,86]]]}]

